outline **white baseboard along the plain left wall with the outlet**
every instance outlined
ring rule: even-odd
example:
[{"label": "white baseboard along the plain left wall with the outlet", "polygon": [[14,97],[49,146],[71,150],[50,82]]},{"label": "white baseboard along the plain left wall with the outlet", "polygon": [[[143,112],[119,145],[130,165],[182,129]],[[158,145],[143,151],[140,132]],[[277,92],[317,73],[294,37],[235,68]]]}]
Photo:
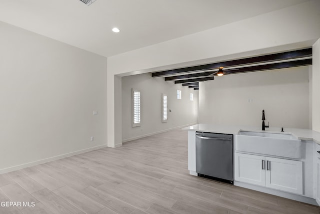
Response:
[{"label": "white baseboard along the plain left wall with the outlet", "polygon": [[28,162],[28,163],[23,163],[21,165],[11,166],[11,167],[8,167],[8,168],[0,169],[0,174],[4,174],[4,173],[7,173],[7,172],[23,169],[23,168],[30,167],[30,166],[35,166],[35,165],[38,165],[38,164],[41,164],[41,163],[50,162],[50,161],[53,161],[53,160],[61,159],[61,158],[64,158],[64,157],[73,156],[73,155],[76,155],[76,154],[81,154],[81,153],[84,153],[84,152],[88,152],[88,151],[92,151],[92,150],[96,150],[96,149],[100,149],[100,148],[104,148],[104,147],[107,147],[107,145],[94,146],[94,147],[90,147],[90,148],[86,148],[86,149],[82,149],[82,150],[78,150],[78,151],[74,151],[74,152],[70,152],[70,153],[66,153],[66,154],[57,155],[57,156],[54,156],[54,157],[49,157],[49,158],[45,158],[45,159],[41,159],[41,160]]}]

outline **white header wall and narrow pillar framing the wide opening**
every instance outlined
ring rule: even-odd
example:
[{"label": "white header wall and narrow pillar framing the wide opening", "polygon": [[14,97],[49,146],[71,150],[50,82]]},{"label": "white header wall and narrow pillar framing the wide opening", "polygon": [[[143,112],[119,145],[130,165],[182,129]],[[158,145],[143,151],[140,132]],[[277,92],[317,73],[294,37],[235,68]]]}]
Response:
[{"label": "white header wall and narrow pillar framing the wide opening", "polygon": [[[114,97],[114,75],[218,62],[311,46],[320,38],[320,1],[305,2],[247,20],[155,44],[108,58],[108,146],[113,147],[114,126],[121,120]],[[116,108],[114,108],[114,104]]]}]

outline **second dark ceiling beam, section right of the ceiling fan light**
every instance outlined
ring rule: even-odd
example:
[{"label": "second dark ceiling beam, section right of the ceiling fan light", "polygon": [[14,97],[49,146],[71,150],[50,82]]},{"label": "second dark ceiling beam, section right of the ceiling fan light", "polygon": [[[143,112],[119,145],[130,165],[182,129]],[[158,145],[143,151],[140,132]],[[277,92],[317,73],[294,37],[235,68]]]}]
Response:
[{"label": "second dark ceiling beam, section right of the ceiling fan light", "polygon": [[265,70],[274,70],[274,69],[281,69],[281,68],[292,68],[292,67],[307,66],[307,65],[312,65],[312,59],[243,67],[243,68],[239,68],[238,70],[230,70],[230,71],[226,70],[225,73],[226,74],[236,74],[236,73],[245,73],[245,72],[253,72],[253,71],[265,71]]}]

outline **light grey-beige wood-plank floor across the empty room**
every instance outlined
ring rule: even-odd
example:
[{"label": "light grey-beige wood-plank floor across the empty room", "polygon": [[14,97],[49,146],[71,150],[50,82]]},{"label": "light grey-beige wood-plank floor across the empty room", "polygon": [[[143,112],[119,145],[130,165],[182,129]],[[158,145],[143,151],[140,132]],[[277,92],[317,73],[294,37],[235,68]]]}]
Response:
[{"label": "light grey-beige wood-plank floor across the empty room", "polygon": [[195,177],[173,130],[0,175],[0,213],[320,213],[317,206]]}]

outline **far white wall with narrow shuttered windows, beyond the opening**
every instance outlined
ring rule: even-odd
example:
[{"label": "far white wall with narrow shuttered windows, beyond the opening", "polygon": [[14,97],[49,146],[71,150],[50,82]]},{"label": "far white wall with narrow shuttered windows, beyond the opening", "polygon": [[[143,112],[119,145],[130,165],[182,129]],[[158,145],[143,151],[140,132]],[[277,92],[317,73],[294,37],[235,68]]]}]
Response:
[{"label": "far white wall with narrow shuttered windows, beyond the opening", "polygon": [[[131,89],[140,90],[141,126],[132,127]],[[176,90],[181,90],[182,99],[176,99]],[[168,97],[168,120],[161,121],[162,93]],[[193,101],[190,101],[193,93]],[[149,73],[122,77],[122,141],[150,135],[176,127],[197,123],[198,91],[152,78]]]}]

